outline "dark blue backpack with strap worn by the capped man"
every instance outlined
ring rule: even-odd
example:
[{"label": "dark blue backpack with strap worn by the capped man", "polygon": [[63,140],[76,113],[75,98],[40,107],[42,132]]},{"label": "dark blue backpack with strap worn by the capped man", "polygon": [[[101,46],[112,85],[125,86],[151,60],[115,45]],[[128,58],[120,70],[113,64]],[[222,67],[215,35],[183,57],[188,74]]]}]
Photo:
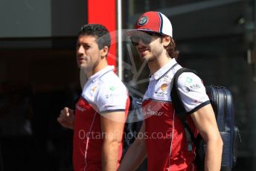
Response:
[{"label": "dark blue backpack with strap worn by the capped man", "polygon": [[[188,123],[185,120],[185,107],[179,96],[177,89],[177,80],[180,74],[183,72],[192,72],[189,68],[181,68],[173,76],[171,83],[171,98],[173,100],[173,106],[176,114],[185,126],[186,138],[189,142],[193,142],[196,146],[196,164],[199,170],[204,170],[205,164],[205,142],[202,137],[198,135],[196,138],[193,136]],[[214,109],[214,114],[217,119],[217,126],[220,130],[221,138],[223,139],[223,156],[221,162],[221,170],[231,170],[237,162],[237,142],[240,138],[240,133],[237,126],[234,126],[234,111],[231,92],[227,88],[222,86],[205,86],[206,93],[211,102],[211,106]],[[191,141],[192,140],[192,141]]]}]

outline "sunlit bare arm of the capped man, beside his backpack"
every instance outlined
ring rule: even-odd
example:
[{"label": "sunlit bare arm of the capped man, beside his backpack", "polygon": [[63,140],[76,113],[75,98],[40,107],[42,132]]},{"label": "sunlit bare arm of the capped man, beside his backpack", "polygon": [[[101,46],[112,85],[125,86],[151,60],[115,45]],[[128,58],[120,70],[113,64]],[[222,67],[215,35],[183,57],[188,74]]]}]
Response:
[{"label": "sunlit bare arm of the capped man, beside his backpack", "polygon": [[205,171],[219,171],[223,152],[223,141],[217,127],[214,110],[211,105],[208,104],[196,112],[193,112],[191,117],[197,129],[199,129],[200,135],[202,135],[202,138],[207,144],[205,152]]}]

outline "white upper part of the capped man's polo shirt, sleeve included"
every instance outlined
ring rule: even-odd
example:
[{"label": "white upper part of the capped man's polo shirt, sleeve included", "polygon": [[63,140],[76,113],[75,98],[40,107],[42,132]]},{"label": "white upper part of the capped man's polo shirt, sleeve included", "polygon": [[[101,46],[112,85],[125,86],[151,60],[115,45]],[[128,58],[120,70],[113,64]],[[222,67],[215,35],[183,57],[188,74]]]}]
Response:
[{"label": "white upper part of the capped man's polo shirt, sleeve included", "polygon": [[[159,71],[150,76],[150,83],[144,94],[144,100],[152,99],[172,102],[170,82],[179,68],[182,68],[182,66],[176,62],[176,59],[171,59]],[[190,72],[182,73],[179,76],[177,85],[186,112],[196,111],[202,103],[209,100],[205,86],[196,74]]]}]

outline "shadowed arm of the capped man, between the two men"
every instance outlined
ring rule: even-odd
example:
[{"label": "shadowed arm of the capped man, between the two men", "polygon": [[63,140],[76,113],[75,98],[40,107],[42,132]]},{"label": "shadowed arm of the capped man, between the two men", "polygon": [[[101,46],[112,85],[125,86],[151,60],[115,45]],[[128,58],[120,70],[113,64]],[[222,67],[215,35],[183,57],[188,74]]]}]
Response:
[{"label": "shadowed arm of the capped man, between the two men", "polygon": [[138,137],[132,143],[132,146],[129,147],[127,153],[124,155],[119,171],[132,171],[136,170],[141,162],[147,155],[146,143],[145,143],[145,126],[144,122],[141,126],[141,130],[138,133]]}]

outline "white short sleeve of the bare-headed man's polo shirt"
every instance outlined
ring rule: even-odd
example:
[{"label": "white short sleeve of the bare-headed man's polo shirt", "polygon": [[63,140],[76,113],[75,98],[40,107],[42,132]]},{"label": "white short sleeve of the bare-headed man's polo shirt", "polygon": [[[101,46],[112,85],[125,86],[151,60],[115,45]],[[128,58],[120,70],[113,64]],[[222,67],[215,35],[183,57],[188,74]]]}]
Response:
[{"label": "white short sleeve of the bare-headed man's polo shirt", "polygon": [[100,87],[95,104],[99,112],[125,110],[127,105],[127,88],[122,84],[106,83]]}]

